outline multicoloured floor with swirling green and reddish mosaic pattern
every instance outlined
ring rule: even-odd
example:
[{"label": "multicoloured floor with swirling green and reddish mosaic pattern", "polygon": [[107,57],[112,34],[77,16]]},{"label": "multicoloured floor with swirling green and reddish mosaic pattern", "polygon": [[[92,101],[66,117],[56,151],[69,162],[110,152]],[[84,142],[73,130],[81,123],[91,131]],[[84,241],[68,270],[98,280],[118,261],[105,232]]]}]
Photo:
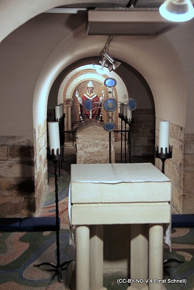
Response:
[{"label": "multicoloured floor with swirling green and reddish mosaic pattern", "polygon": [[[40,216],[55,215],[54,176],[49,169],[49,191],[44,199]],[[75,250],[69,246],[67,213],[69,168],[62,169],[59,178],[59,212],[61,217],[61,262],[75,259]],[[172,252],[164,245],[164,259],[179,259],[183,263],[164,265],[164,279],[186,279],[187,283],[166,283],[167,290],[194,290],[194,228],[172,229]],[[0,233],[0,290],[66,290],[53,271],[33,267],[41,262],[56,263],[55,232],[3,232]],[[46,268],[46,266],[44,266]],[[108,290],[127,290],[128,283],[117,284],[119,273],[104,275],[104,287]],[[73,289],[72,289],[73,290]]]}]

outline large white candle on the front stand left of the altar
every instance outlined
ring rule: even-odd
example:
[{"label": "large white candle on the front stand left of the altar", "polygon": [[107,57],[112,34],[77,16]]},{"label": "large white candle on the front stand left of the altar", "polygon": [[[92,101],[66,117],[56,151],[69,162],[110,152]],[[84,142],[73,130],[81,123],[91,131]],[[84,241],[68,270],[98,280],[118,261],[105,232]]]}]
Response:
[{"label": "large white candle on the front stand left of the altar", "polygon": [[54,154],[57,154],[57,149],[60,153],[59,122],[48,122],[48,131],[50,154],[52,149],[54,149]]}]

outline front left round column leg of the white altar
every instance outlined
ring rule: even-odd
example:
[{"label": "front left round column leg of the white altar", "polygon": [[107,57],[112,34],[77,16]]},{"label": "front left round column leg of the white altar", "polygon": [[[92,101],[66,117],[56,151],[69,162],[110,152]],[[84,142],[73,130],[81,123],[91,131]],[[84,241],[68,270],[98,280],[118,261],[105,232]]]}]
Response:
[{"label": "front left round column leg of the white altar", "polygon": [[89,290],[90,229],[76,227],[76,290]]}]

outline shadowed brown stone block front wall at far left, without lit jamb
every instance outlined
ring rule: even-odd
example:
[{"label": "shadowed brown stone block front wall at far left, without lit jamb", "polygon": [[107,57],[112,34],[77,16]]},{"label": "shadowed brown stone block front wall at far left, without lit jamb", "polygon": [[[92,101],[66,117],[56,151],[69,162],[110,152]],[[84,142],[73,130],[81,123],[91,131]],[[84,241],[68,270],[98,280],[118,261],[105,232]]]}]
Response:
[{"label": "shadowed brown stone block front wall at far left, without lit jamb", "polygon": [[33,139],[0,137],[0,217],[35,211]]}]

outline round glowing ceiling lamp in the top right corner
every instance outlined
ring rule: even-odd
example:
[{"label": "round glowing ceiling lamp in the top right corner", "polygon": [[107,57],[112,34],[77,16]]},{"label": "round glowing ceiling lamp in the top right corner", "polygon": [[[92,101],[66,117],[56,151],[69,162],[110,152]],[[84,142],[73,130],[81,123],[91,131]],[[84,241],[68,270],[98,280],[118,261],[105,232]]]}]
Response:
[{"label": "round glowing ceiling lamp in the top right corner", "polygon": [[167,20],[184,22],[194,17],[194,6],[190,0],[166,0],[159,8]]}]

